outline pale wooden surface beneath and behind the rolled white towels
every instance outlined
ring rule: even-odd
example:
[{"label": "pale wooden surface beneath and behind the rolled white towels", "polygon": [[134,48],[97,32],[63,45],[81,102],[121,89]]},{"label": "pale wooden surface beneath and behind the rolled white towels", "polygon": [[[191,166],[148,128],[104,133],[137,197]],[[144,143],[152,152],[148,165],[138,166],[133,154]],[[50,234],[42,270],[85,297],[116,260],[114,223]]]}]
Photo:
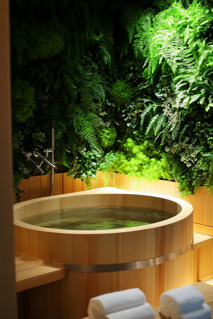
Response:
[{"label": "pale wooden surface beneath and behind the rolled white towels", "polygon": [[[205,302],[209,305],[213,313],[213,286],[201,282],[196,282],[193,286],[203,294]],[[160,313],[160,307],[155,308],[154,311],[155,319],[166,319],[166,317]],[[85,317],[83,319],[90,319],[90,317]],[[211,316],[211,319],[213,319],[213,315]]]}]

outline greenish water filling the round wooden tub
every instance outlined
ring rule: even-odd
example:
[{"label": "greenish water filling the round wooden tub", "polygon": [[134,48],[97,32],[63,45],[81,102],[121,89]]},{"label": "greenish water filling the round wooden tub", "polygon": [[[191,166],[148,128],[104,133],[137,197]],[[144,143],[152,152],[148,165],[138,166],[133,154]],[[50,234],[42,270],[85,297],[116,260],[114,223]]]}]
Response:
[{"label": "greenish water filling the round wooden tub", "polygon": [[49,212],[23,221],[47,228],[103,230],[148,225],[173,216],[171,213],[156,209],[101,207]]}]

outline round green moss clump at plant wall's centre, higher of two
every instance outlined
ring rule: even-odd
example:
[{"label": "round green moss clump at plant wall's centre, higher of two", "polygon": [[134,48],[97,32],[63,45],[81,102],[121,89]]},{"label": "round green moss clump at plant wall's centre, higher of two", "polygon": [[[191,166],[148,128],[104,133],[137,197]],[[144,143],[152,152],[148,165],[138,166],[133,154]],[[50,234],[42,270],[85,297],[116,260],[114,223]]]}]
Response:
[{"label": "round green moss clump at plant wall's centre, higher of two", "polygon": [[133,88],[130,84],[123,80],[117,80],[110,90],[111,97],[116,103],[118,110],[125,105],[125,103],[131,102],[133,99]]}]

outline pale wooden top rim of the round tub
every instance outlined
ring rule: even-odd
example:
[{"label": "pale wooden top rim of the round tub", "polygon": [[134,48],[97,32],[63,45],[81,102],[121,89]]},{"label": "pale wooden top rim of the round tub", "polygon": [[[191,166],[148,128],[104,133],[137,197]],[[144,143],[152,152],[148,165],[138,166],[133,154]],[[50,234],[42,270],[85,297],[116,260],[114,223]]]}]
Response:
[{"label": "pale wooden top rim of the round tub", "polygon": [[143,226],[135,226],[135,227],[127,227],[127,228],[118,228],[118,229],[106,229],[106,230],[68,230],[68,229],[55,229],[55,228],[47,228],[47,227],[40,227],[35,225],[27,224],[15,217],[13,217],[13,223],[16,226],[28,228],[31,230],[37,230],[40,232],[48,232],[48,233],[57,233],[57,234],[80,234],[80,235],[87,235],[87,234],[118,234],[118,233],[128,233],[128,232],[135,232],[135,231],[141,231],[141,230],[148,230],[148,229],[154,229],[157,227],[167,226],[170,224],[173,224],[175,222],[178,222],[180,220],[185,219],[190,214],[193,213],[193,206],[189,204],[188,202],[184,201],[183,199],[168,196],[168,195],[162,195],[162,194],[156,194],[156,193],[147,193],[147,192],[131,192],[124,189],[117,189],[114,187],[102,187],[98,189],[91,189],[91,190],[84,190],[81,192],[75,192],[75,193],[68,193],[63,195],[55,195],[51,197],[40,197],[35,199],[30,199],[25,202],[21,202],[18,204],[13,205],[13,215],[15,214],[16,209],[25,206],[27,204],[36,203],[39,201],[45,201],[50,200],[54,198],[63,198],[63,197],[72,197],[72,196],[80,196],[80,195],[89,195],[89,194],[130,194],[130,195],[142,195],[142,196],[150,196],[150,197],[158,197],[170,200],[172,202],[175,202],[179,204],[182,207],[182,210],[179,214],[175,215],[174,217],[171,217],[169,219],[149,224],[149,225],[143,225]]}]

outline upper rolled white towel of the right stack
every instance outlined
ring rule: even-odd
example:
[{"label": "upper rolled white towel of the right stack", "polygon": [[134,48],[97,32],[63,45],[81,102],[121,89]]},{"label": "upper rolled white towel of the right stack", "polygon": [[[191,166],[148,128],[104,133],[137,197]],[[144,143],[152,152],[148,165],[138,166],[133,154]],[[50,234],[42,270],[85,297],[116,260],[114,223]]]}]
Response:
[{"label": "upper rolled white towel of the right stack", "polygon": [[184,286],[162,293],[160,296],[161,313],[169,318],[195,308],[204,303],[204,297],[194,286]]}]

